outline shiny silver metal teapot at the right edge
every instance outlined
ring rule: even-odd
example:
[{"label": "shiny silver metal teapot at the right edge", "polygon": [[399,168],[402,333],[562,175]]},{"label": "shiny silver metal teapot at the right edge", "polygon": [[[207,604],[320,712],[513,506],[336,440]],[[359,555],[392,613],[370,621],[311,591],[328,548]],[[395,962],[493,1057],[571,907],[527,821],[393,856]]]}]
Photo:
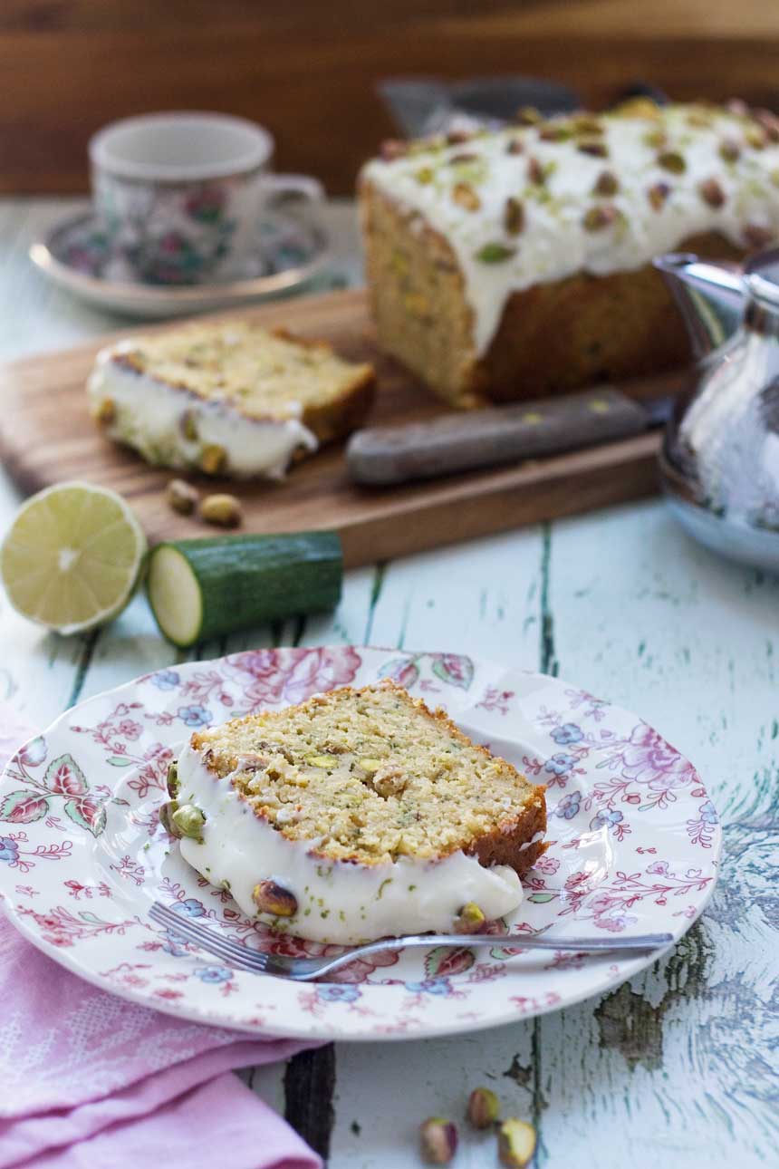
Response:
[{"label": "shiny silver metal teapot at the right edge", "polygon": [[655,267],[698,362],[666,433],[663,490],[695,539],[779,572],[779,250],[744,268],[680,253]]}]

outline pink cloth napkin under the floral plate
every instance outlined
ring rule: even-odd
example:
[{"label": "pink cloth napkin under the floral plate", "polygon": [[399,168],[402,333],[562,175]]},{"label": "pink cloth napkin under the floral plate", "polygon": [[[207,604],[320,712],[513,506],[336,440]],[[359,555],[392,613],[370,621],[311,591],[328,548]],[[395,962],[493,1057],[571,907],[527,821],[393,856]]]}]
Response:
[{"label": "pink cloth napkin under the floral plate", "polygon": [[[35,732],[0,705],[0,765]],[[251,1039],[124,1002],[0,915],[0,1169],[321,1169],[230,1068],[311,1044]]]}]

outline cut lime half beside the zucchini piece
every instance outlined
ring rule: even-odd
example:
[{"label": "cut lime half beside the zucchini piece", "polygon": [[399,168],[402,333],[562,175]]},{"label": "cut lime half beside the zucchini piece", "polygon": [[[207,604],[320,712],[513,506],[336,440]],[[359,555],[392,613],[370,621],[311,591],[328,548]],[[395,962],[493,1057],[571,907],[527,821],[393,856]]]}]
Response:
[{"label": "cut lime half beside the zucchini piece", "polygon": [[140,575],[146,537],[121,496],[60,483],[22,506],[0,549],[14,609],[60,634],[117,617]]}]

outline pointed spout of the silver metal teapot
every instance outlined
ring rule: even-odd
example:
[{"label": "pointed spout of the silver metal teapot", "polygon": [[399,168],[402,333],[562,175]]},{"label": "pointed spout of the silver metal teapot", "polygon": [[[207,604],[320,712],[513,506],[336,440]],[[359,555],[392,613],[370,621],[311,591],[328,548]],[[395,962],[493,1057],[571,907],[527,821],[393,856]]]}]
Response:
[{"label": "pointed spout of the silver metal teapot", "polygon": [[654,267],[681,310],[697,360],[730,340],[740,326],[746,302],[738,265],[669,251],[658,256]]}]

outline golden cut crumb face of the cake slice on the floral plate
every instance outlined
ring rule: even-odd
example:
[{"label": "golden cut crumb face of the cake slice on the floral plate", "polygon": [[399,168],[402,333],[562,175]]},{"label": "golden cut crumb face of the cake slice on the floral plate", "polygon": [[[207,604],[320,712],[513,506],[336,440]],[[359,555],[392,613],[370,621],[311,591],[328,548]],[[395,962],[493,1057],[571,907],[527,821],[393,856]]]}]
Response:
[{"label": "golden cut crumb face of the cake slice on the floral plate", "polygon": [[[391,683],[249,715],[192,742],[257,816],[333,860],[432,860],[514,837],[528,817],[534,832],[543,826],[543,788]],[[514,866],[524,871],[519,845]]]}]

